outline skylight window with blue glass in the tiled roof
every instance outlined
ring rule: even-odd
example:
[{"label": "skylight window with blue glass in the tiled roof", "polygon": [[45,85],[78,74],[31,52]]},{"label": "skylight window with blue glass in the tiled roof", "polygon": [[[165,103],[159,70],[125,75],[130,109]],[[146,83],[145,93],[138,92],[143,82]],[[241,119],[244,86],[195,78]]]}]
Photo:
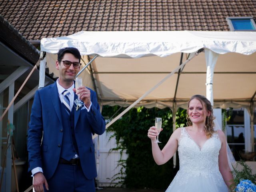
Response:
[{"label": "skylight window with blue glass in the tiled roof", "polygon": [[256,24],[252,17],[228,17],[230,31],[256,31]]}]

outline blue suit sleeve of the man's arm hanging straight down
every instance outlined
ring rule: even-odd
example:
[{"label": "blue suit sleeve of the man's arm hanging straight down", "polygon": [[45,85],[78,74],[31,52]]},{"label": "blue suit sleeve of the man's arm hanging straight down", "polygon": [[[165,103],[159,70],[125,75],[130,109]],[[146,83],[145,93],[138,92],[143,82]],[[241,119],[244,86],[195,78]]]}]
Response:
[{"label": "blue suit sleeve of the man's arm hanging straight down", "polygon": [[36,91],[31,109],[28,128],[28,171],[42,167],[41,140],[43,134],[42,104],[39,92]]}]

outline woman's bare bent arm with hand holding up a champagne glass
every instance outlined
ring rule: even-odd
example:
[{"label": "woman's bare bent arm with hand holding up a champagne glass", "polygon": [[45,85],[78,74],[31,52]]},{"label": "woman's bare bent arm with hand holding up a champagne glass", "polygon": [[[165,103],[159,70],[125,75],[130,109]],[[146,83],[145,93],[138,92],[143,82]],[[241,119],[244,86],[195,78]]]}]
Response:
[{"label": "woman's bare bent arm with hand holding up a champagne glass", "polygon": [[162,165],[166,163],[168,160],[170,160],[170,158],[172,158],[172,156],[174,155],[178,148],[178,139],[180,138],[181,132],[180,130],[181,129],[178,128],[172,133],[167,144],[161,151],[158,146],[158,143],[154,143],[154,141],[156,141],[157,135],[156,128],[155,126],[150,127],[150,129],[148,130],[148,137],[151,139],[152,154],[156,164]]}]

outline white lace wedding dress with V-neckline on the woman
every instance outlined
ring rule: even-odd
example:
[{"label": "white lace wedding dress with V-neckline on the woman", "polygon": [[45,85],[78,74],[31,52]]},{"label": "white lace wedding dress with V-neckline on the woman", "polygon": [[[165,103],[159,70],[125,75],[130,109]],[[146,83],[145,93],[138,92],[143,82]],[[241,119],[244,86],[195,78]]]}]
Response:
[{"label": "white lace wedding dress with V-neckline on the woman", "polygon": [[221,142],[217,133],[202,148],[181,128],[178,142],[180,170],[166,192],[228,192],[218,166]]}]

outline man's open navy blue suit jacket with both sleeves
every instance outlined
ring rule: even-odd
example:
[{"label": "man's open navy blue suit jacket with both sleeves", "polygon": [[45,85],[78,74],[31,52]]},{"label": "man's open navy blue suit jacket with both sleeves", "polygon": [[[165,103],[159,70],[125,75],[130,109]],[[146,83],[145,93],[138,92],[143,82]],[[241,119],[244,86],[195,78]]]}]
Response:
[{"label": "man's open navy blue suit jacket with both sleeves", "polygon": [[[82,170],[87,179],[97,176],[92,132],[105,131],[96,93],[90,89],[92,106],[74,112],[75,137]],[[75,98],[77,95],[75,94]],[[63,138],[60,98],[56,82],[36,91],[28,129],[28,171],[42,167],[46,180],[54,174],[60,159]],[[73,106],[74,107],[74,106]]]}]

